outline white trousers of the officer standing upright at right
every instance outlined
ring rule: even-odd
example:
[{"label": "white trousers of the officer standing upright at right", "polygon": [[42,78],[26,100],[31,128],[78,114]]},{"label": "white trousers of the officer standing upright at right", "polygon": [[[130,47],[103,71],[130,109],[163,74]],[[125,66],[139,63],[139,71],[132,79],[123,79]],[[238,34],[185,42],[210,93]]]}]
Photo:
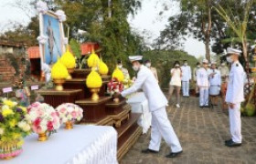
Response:
[{"label": "white trousers of the officer standing upright at right", "polygon": [[229,126],[232,140],[241,143],[240,103],[235,104],[234,108],[229,108]]}]

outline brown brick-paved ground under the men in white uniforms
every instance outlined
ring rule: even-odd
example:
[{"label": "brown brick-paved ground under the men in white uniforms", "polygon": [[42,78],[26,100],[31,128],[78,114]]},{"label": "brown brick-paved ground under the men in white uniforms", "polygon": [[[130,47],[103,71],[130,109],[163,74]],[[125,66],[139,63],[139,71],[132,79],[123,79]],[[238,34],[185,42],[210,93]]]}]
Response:
[{"label": "brown brick-paved ground under the men in white uniforms", "polygon": [[167,108],[168,116],[180,139],[184,153],[176,159],[165,159],[169,148],[165,141],[158,154],[144,155],[150,132],[139,138],[121,164],[197,164],[197,163],[256,163],[256,118],[242,118],[243,145],[229,149],[223,141],[229,138],[229,119],[219,107],[199,109],[196,97],[183,98],[182,108]]}]

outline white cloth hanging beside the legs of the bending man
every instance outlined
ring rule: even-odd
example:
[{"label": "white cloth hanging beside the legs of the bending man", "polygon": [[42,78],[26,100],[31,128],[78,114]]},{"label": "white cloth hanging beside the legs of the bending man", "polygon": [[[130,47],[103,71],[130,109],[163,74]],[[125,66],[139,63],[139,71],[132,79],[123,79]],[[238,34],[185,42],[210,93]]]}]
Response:
[{"label": "white cloth hanging beside the legs of the bending man", "polygon": [[128,98],[127,103],[131,105],[133,113],[142,113],[138,119],[138,125],[143,128],[143,133],[147,133],[151,126],[151,112],[148,108],[148,101],[143,92],[137,92]]}]

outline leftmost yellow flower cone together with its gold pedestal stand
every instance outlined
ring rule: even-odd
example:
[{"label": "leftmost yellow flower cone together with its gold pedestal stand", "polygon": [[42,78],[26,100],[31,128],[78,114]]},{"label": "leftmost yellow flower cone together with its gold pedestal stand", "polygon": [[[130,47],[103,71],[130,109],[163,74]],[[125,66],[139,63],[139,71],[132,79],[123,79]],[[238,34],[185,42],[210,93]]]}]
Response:
[{"label": "leftmost yellow flower cone together with its gold pedestal stand", "polygon": [[67,67],[65,67],[60,60],[57,61],[56,64],[53,65],[51,69],[51,77],[53,78],[54,83],[56,84],[56,90],[63,90],[63,83],[65,79],[69,77],[69,73]]}]

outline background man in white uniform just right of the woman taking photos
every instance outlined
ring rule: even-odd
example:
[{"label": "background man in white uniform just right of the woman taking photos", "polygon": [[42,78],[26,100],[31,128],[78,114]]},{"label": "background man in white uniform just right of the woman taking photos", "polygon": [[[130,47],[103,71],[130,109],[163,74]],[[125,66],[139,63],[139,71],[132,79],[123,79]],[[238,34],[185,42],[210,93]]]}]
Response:
[{"label": "background man in white uniform just right of the woman taking photos", "polygon": [[191,80],[191,67],[187,65],[187,60],[184,60],[184,65],[181,67],[182,70],[182,93],[183,97],[189,97],[189,82]]}]

